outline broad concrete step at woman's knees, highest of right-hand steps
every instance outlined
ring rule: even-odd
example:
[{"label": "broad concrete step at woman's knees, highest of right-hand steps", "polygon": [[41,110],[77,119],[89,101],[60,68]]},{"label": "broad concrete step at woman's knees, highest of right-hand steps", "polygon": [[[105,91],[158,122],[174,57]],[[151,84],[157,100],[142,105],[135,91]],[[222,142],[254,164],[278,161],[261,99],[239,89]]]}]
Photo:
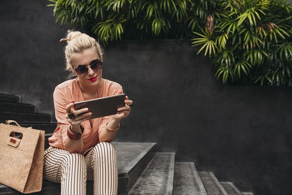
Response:
[{"label": "broad concrete step at woman's knees, highest of right-hand steps", "polygon": [[[141,176],[156,153],[156,143],[111,142],[118,153],[118,195],[128,191]],[[173,159],[174,160],[174,159]],[[60,194],[61,185],[43,179],[42,191],[32,195]],[[18,195],[16,190],[0,185],[0,195]],[[93,181],[87,181],[87,194],[93,194]]]}]

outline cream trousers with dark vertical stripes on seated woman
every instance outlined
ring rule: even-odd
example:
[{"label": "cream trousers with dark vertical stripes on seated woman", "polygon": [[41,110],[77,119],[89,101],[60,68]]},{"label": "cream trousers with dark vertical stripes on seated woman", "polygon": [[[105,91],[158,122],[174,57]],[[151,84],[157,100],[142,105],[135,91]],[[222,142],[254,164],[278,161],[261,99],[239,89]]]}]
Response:
[{"label": "cream trousers with dark vertical stripes on seated woman", "polygon": [[61,195],[85,195],[87,180],[94,182],[94,195],[117,195],[117,152],[109,142],[100,142],[82,155],[49,147],[43,176],[61,183]]}]

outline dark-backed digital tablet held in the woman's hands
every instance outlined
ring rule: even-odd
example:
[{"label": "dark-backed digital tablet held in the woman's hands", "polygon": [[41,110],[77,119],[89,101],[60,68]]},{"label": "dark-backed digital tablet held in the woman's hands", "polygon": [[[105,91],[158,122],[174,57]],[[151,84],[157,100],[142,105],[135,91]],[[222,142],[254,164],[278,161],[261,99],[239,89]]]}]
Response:
[{"label": "dark-backed digital tablet held in the woman's hands", "polygon": [[[117,109],[125,106],[126,94],[90,99],[74,103],[74,109],[88,108],[92,112],[90,119],[117,114]],[[87,113],[88,113],[87,112]],[[84,114],[84,113],[82,113]]]}]

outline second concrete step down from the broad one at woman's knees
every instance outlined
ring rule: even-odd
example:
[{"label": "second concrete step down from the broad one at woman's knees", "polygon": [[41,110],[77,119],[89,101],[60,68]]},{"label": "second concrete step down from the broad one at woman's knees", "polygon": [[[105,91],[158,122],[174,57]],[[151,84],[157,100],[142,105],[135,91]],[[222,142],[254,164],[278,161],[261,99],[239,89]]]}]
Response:
[{"label": "second concrete step down from the broad one at woman's knees", "polygon": [[173,195],[207,195],[193,162],[176,162]]}]

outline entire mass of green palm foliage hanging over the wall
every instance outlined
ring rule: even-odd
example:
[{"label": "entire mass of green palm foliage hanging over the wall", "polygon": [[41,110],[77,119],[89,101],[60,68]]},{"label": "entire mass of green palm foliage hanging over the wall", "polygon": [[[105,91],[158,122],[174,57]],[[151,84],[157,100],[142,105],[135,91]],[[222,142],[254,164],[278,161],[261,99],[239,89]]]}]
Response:
[{"label": "entire mass of green palm foliage hanging over the wall", "polygon": [[292,85],[292,6],[286,0],[50,1],[56,21],[105,44],[193,38],[223,83]]}]

